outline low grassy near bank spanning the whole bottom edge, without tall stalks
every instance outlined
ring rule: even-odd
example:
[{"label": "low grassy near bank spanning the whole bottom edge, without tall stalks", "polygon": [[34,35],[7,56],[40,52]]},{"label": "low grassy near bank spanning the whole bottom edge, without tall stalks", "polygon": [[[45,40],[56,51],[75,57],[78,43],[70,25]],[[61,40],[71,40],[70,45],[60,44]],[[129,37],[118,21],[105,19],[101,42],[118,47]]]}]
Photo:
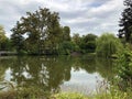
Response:
[{"label": "low grassy near bank spanning the whole bottom edge, without tall stalks", "polygon": [[112,90],[103,94],[82,95],[77,92],[46,94],[32,89],[0,92],[0,99],[131,99],[132,92]]}]

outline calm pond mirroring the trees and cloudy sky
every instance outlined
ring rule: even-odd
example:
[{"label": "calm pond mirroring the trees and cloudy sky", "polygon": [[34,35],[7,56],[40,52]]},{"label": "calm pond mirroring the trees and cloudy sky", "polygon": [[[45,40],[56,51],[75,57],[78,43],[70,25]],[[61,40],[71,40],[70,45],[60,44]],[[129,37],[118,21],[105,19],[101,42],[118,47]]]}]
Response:
[{"label": "calm pond mirroring the trees and cloudy sky", "polygon": [[36,87],[50,92],[89,94],[96,91],[99,81],[109,81],[114,75],[111,59],[95,56],[0,57],[0,82],[6,80],[15,87]]}]

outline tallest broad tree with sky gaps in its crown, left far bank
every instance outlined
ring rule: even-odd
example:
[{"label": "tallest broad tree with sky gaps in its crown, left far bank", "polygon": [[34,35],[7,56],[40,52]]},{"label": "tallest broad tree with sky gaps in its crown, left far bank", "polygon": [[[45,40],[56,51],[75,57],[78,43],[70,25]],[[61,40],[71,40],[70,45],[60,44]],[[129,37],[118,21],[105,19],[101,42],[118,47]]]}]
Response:
[{"label": "tallest broad tree with sky gaps in its crown, left far bank", "polygon": [[53,53],[57,48],[62,33],[58,13],[40,8],[34,13],[26,12],[26,15],[12,29],[11,40],[18,51],[24,45],[29,53],[43,54],[46,50]]}]

